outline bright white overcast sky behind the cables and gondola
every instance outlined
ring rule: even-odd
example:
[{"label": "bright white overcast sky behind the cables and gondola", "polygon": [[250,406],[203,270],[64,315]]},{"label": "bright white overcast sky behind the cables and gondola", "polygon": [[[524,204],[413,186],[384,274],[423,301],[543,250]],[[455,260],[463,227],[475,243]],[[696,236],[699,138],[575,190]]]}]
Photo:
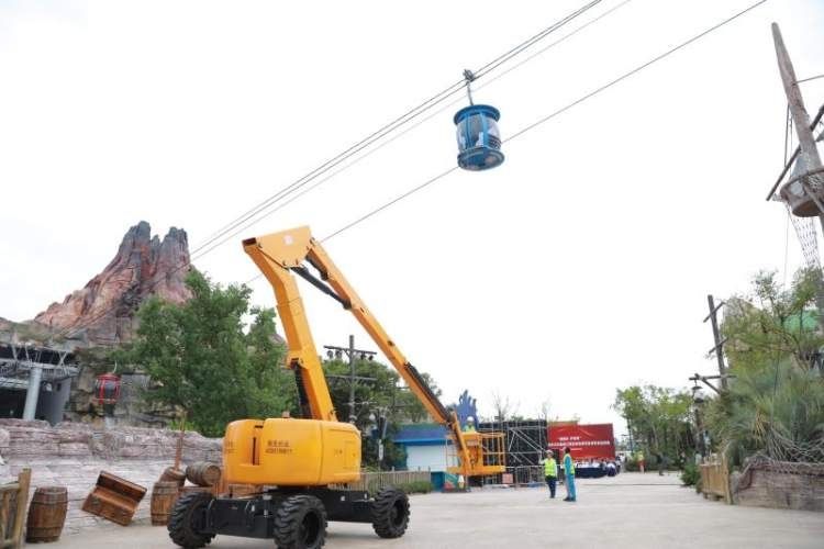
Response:
[{"label": "bright white overcast sky behind the cables and gondola", "polygon": [[[141,220],[197,247],[583,3],[0,0],[0,316],[82,288]],[[603,0],[478,80],[475,100],[506,138],[750,3]],[[468,389],[481,415],[499,394],[525,416],[548,401],[616,422],[617,388],[687,386],[715,369],[706,294],[802,265],[765,201],[783,160],[773,21],[799,78],[823,74],[824,1],[770,0],[504,143],[500,168],[456,170],[324,246],[446,402]],[[814,113],[824,79],[802,91]],[[194,265],[249,281],[243,238],[324,237],[450,168],[454,100]],[[354,334],[376,348],[303,288],[319,347]]]}]

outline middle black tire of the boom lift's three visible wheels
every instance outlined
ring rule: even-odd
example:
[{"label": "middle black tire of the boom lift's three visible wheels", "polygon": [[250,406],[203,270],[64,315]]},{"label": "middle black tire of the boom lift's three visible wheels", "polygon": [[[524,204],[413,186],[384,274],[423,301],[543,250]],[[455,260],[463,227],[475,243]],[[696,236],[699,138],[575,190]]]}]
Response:
[{"label": "middle black tire of the boom lift's three visible wheels", "polygon": [[275,545],[280,549],[320,549],[326,542],[326,509],[313,495],[292,495],[275,513]]}]

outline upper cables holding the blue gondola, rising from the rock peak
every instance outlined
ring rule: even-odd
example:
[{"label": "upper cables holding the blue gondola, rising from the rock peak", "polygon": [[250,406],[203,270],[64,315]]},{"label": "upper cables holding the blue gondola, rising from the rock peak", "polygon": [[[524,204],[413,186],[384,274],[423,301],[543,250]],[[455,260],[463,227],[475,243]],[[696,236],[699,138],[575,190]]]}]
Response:
[{"label": "upper cables holding the blue gondola, rising from the rock peak", "polygon": [[[516,45],[515,47],[511,48],[509,52],[504,53],[503,55],[500,55],[495,59],[483,65],[480,69],[478,69],[475,72],[475,78],[482,78],[487,74],[491,72],[492,70],[500,67],[502,64],[509,61],[513,57],[520,55],[522,52],[526,51],[541,40],[545,38],[553,32],[557,31],[565,24],[569,23],[574,19],[578,18],[582,13],[587,12],[594,5],[599,4],[603,0],[592,0],[591,2],[582,5],[581,8],[577,9],[576,11],[571,12],[570,14],[561,18],[559,21],[553,23],[552,25],[545,27],[539,33],[533,35],[532,37],[527,38],[526,41],[522,42],[521,44]],[[258,203],[256,206],[253,206],[250,210],[246,211],[244,214],[241,214],[238,217],[236,217],[233,222],[229,223],[227,225],[224,225],[221,229],[219,229],[216,233],[214,233],[212,236],[207,238],[207,240],[200,245],[198,245],[193,250],[192,254],[196,254],[216,239],[220,239],[223,235],[225,235],[229,231],[232,231],[236,228],[242,223],[250,220],[252,217],[256,216],[259,212],[268,208],[269,205],[274,204],[278,200],[282,199],[283,197],[288,195],[289,193],[300,189],[308,182],[312,181],[319,176],[322,176],[330,169],[334,168],[335,166],[339,165],[342,161],[346,160],[347,158],[352,157],[353,155],[359,153],[364,148],[370,146],[375,142],[381,139],[387,134],[396,131],[398,127],[402,126],[403,124],[407,124],[408,122],[414,120],[415,117],[420,116],[424,112],[428,111],[430,109],[434,108],[435,105],[439,104],[441,102],[445,101],[448,97],[457,93],[460,91],[465,86],[466,80],[461,79],[457,82],[453,83],[452,86],[447,87],[439,93],[436,93],[432,98],[427,99],[420,105],[407,111],[401,116],[394,119],[392,122],[389,122],[388,124],[385,124],[376,132],[371,133],[369,136],[365,137],[364,139],[359,141],[355,145],[350,146],[346,150],[339,153],[337,156],[333,157],[330,160],[326,160],[324,164],[319,166],[318,168],[313,169],[309,173],[304,175],[303,177],[297,179],[292,183],[286,186],[285,188],[281,188],[275,194],[268,197],[260,203]]]}]

